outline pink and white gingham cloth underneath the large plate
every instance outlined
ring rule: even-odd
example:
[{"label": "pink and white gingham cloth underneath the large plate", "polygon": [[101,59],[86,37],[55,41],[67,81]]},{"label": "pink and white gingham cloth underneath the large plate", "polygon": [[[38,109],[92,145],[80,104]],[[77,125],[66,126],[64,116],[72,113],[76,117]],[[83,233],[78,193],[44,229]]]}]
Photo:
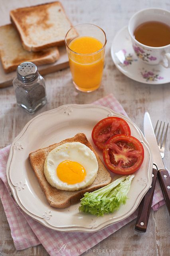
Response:
[{"label": "pink and white gingham cloth underneath the large plate", "polygon": [[[127,116],[113,94],[95,101],[94,104],[106,106]],[[6,163],[9,150],[10,146],[0,150],[0,198],[10,225],[16,250],[23,250],[30,246],[42,244],[50,256],[78,256],[136,218],[137,211],[127,219],[95,233],[58,232],[46,228],[25,214],[10,196],[11,192],[6,178]],[[153,210],[157,210],[164,203],[164,197],[157,182],[152,202]]]}]

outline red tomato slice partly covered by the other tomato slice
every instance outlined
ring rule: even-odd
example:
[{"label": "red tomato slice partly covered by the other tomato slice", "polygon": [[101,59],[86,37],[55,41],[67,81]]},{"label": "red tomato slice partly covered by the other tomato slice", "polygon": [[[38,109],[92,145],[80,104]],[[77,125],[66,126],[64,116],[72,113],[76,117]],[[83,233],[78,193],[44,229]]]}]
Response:
[{"label": "red tomato slice partly covered by the other tomato slice", "polygon": [[124,119],[111,116],[99,121],[93,128],[91,136],[95,146],[102,150],[107,140],[116,134],[130,135],[130,127]]}]

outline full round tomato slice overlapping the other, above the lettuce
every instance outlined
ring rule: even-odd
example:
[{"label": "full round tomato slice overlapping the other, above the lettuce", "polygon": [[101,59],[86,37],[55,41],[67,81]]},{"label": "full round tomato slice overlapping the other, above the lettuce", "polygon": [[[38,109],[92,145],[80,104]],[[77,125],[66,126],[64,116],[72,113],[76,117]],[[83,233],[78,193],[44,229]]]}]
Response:
[{"label": "full round tomato slice overlapping the other, above the lettuce", "polygon": [[144,159],[144,149],[133,136],[118,134],[111,137],[103,149],[103,160],[116,174],[131,174],[138,170]]}]

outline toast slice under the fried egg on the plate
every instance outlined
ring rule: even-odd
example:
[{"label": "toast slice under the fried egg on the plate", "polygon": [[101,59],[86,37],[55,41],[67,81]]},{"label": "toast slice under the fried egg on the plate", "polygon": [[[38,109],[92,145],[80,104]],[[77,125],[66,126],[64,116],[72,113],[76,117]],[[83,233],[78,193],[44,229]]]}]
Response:
[{"label": "toast slice under the fried egg on the plate", "polygon": [[[93,150],[99,165],[97,177],[95,178],[94,182],[89,187],[75,192],[58,190],[57,188],[52,187],[47,182],[43,173],[43,166],[47,154],[57,146],[60,146],[61,144],[64,144],[66,142],[81,142],[85,144],[87,147]],[[40,186],[42,187],[45,193],[47,201],[49,202],[50,206],[55,208],[69,207],[71,204],[79,202],[79,200],[83,197],[85,192],[92,192],[94,190],[97,190],[98,188],[102,188],[103,186],[106,186],[107,184],[111,183],[111,176],[109,172],[107,171],[98,154],[95,152],[94,148],[91,146],[85,134],[83,133],[78,133],[73,138],[68,138],[59,143],[50,145],[47,148],[38,149],[29,154],[29,160],[32,169],[35,172],[36,177],[40,183]]]}]

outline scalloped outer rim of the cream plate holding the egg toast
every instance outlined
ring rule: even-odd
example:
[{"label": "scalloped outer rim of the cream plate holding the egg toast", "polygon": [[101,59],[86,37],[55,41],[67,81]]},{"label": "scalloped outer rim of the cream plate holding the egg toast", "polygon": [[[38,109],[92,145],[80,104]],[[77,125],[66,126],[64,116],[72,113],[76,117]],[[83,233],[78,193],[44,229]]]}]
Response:
[{"label": "scalloped outer rim of the cream plate holding the egg toast", "polygon": [[[16,188],[14,188],[14,185],[12,184],[11,180],[10,180],[10,175],[9,175],[9,172],[10,172],[10,164],[11,164],[11,161],[12,161],[12,156],[13,156],[13,146],[14,144],[18,141],[18,139],[20,139],[22,137],[22,135],[24,135],[24,133],[26,132],[27,128],[30,126],[30,124],[32,122],[34,122],[34,120],[36,120],[37,118],[39,118],[40,116],[42,115],[45,115],[45,114],[50,114],[52,112],[58,112],[59,110],[62,110],[63,108],[65,107],[77,107],[77,108],[104,108],[105,110],[109,111],[110,114],[114,114],[116,116],[119,116],[119,117],[122,117],[124,118],[125,120],[128,120],[129,122],[131,122],[131,124],[136,128],[136,130],[138,130],[138,133],[140,135],[140,138],[141,138],[141,142],[143,142],[147,149],[148,149],[148,152],[149,152],[149,155],[150,155],[150,160],[149,160],[149,164],[148,166],[150,166],[150,172],[148,171],[148,181],[150,181],[148,184],[146,184],[146,186],[144,187],[144,189],[140,192],[140,194],[142,193],[142,196],[140,198],[140,200],[134,204],[134,206],[131,208],[131,211],[129,214],[124,214],[125,217],[124,218],[121,218],[119,217],[119,220],[117,221],[114,221],[114,218],[112,218],[111,220],[107,220],[106,222],[103,222],[102,224],[99,224],[97,227],[91,227],[91,228],[86,228],[86,227],[81,227],[81,226],[63,226],[63,227],[57,227],[57,226],[51,226],[49,223],[47,223],[47,221],[45,221],[43,218],[40,218],[32,213],[30,213],[23,205],[22,203],[20,202],[20,198],[18,197],[18,194],[16,192]],[[111,224],[115,224],[117,222],[120,222],[122,220],[124,220],[125,218],[128,218],[135,210],[136,208],[138,207],[138,205],[140,204],[143,196],[146,194],[146,192],[148,191],[148,189],[150,188],[150,185],[152,183],[152,164],[153,164],[153,157],[152,157],[152,152],[150,150],[150,147],[148,145],[148,142],[146,141],[146,139],[144,138],[144,135],[142,134],[141,130],[138,128],[138,126],[136,126],[136,124],[134,124],[134,122],[132,122],[130,120],[130,118],[124,116],[123,114],[119,114],[117,112],[115,112],[114,110],[111,110],[110,108],[107,108],[105,106],[100,106],[100,105],[94,105],[94,104],[65,104],[65,105],[62,105],[62,106],[59,106],[58,108],[54,108],[52,110],[47,110],[45,112],[42,112],[40,114],[38,114],[37,116],[35,116],[34,118],[32,118],[25,126],[24,128],[22,129],[22,131],[18,134],[18,136],[16,136],[16,138],[13,140],[12,144],[11,144],[11,148],[10,148],[10,153],[9,153],[9,157],[8,157],[8,161],[7,161],[7,170],[6,170],[6,174],[7,174],[7,180],[8,180],[8,184],[10,186],[10,189],[11,189],[11,192],[12,192],[12,195],[16,201],[16,203],[20,206],[20,208],[26,213],[28,214],[30,217],[32,217],[34,220],[38,221],[39,223],[43,224],[44,226],[48,227],[48,228],[51,228],[53,230],[58,230],[58,231],[63,231],[63,232],[97,232],[107,226],[110,226]],[[149,168],[148,168],[149,169]],[[138,197],[140,196],[140,194],[138,195]],[[121,218],[121,219],[120,219]]]}]

